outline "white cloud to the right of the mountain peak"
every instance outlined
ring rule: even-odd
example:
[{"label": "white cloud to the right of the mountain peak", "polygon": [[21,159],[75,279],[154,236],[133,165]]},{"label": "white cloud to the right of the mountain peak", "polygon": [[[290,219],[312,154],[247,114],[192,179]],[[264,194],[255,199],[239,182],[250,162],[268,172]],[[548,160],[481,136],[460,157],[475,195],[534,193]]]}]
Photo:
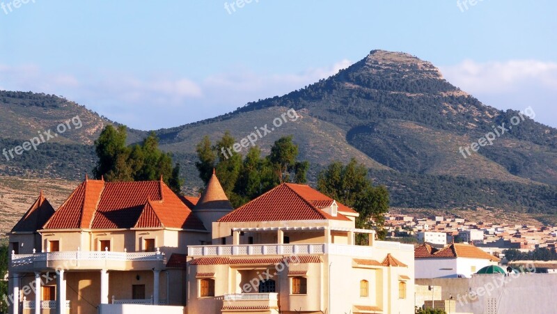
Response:
[{"label": "white cloud to the right of the mountain peak", "polygon": [[535,120],[557,127],[557,63],[512,60],[478,63],[465,60],[441,67],[451,84],[498,109],[532,106]]}]

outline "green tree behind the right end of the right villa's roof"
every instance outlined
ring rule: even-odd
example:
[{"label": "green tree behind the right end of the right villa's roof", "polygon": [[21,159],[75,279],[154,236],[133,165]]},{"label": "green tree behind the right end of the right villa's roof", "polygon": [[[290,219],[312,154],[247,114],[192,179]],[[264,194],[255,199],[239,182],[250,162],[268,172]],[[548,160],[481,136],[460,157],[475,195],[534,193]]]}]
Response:
[{"label": "green tree behind the right end of the right villa's roof", "polygon": [[[384,214],[389,212],[389,191],[374,187],[368,170],[356,159],[343,166],[333,162],[317,178],[317,189],[359,213],[356,228],[374,228],[379,239],[384,239]],[[362,242],[363,239],[359,239]]]}]

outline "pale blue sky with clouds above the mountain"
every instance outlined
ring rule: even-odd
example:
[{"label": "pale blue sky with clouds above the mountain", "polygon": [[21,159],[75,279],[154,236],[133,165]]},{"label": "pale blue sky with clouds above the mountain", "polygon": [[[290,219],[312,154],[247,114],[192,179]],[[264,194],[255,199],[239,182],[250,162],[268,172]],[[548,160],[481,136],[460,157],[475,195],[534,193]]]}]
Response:
[{"label": "pale blue sky with clouds above the mountain", "polygon": [[554,0],[0,0],[0,90],[62,95],[159,129],[303,88],[385,49],[557,127],[556,13]]}]

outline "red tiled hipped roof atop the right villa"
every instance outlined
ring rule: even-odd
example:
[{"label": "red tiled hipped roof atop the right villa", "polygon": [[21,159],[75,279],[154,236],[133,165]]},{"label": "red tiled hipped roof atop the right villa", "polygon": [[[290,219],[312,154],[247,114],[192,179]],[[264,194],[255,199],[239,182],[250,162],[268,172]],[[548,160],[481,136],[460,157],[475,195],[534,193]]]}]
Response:
[{"label": "red tiled hipped roof atop the right villa", "polygon": [[[331,216],[322,210],[325,201],[332,204],[328,198],[307,185],[293,185],[283,183],[274,189],[262,194],[258,198],[237,208],[219,219],[219,222],[244,222],[244,221],[292,221],[292,220],[319,220],[332,219],[350,221],[340,210]],[[343,205],[344,206],[344,205]],[[324,207],[328,207],[324,206]]]}]

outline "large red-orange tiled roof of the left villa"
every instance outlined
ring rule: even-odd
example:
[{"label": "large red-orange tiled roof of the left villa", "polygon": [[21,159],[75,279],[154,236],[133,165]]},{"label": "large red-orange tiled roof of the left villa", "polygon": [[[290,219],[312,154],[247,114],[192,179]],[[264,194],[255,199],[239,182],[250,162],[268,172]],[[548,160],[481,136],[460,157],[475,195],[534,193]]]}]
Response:
[{"label": "large red-orange tiled roof of the left villa", "polygon": [[105,182],[87,179],[43,228],[205,230],[203,223],[162,180]]}]

